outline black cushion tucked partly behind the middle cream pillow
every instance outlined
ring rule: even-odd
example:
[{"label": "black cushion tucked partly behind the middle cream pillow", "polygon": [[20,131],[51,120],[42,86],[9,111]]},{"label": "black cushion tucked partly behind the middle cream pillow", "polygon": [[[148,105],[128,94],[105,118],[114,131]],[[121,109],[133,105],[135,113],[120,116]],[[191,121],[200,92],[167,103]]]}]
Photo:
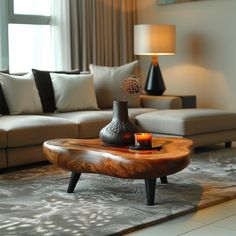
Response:
[{"label": "black cushion tucked partly behind the middle cream pillow", "polygon": [[53,85],[50,78],[50,73],[62,73],[62,74],[79,74],[79,70],[72,71],[43,71],[32,69],[34,74],[35,83],[39,91],[40,100],[43,107],[43,112],[54,112],[56,110],[56,104],[54,100]]}]

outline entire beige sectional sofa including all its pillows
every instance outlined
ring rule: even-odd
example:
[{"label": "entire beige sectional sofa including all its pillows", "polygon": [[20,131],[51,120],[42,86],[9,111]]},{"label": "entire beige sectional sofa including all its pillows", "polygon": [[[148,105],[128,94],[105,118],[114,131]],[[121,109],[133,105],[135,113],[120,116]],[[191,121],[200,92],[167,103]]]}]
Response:
[{"label": "entire beige sectional sofa including all its pillows", "polygon": [[[122,99],[122,79],[136,66],[91,66],[93,79],[78,71],[49,75],[34,70],[34,77],[27,78],[0,73],[0,169],[46,160],[42,144],[49,139],[97,138],[112,119],[113,100]],[[130,120],[144,132],[191,138],[195,147],[236,140],[235,113],[181,109],[179,97],[140,95],[128,97],[128,102]]]}]

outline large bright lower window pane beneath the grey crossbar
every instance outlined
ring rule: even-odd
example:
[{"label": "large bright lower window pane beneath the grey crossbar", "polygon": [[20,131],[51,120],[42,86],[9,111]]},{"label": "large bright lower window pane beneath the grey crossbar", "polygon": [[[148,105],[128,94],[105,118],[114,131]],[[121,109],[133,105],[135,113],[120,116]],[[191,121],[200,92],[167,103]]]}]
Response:
[{"label": "large bright lower window pane beneath the grey crossbar", "polygon": [[8,30],[11,72],[52,68],[50,26],[9,24]]}]

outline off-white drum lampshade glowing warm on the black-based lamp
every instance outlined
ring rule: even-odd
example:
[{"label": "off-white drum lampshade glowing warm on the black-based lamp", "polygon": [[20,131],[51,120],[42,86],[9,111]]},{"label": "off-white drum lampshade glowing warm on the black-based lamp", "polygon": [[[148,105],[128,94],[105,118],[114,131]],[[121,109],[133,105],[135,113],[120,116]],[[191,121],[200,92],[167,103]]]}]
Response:
[{"label": "off-white drum lampshade glowing warm on the black-based lamp", "polygon": [[135,25],[136,55],[171,55],[176,52],[175,25]]}]

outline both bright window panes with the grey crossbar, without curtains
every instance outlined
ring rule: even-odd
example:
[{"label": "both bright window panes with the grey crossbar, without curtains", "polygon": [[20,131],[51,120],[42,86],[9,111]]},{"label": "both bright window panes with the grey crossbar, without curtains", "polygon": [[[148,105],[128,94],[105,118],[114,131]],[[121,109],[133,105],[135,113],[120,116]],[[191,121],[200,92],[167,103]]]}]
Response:
[{"label": "both bright window panes with the grey crossbar, without curtains", "polygon": [[10,0],[9,13],[10,72],[52,68],[50,0]]}]

